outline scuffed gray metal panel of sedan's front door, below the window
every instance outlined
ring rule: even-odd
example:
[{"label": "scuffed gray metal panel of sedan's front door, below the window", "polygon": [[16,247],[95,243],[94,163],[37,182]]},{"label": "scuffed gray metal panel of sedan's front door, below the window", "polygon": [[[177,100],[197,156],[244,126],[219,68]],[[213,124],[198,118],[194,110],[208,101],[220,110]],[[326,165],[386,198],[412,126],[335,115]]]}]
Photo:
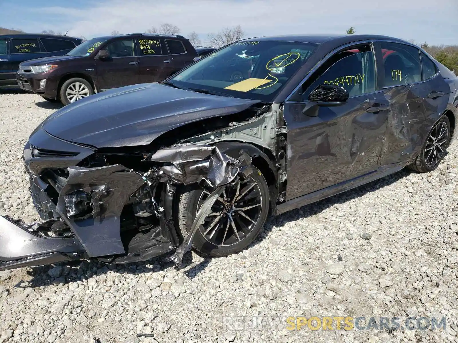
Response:
[{"label": "scuffed gray metal panel of sedan's front door, below the window", "polygon": [[364,94],[319,107],[316,117],[302,113],[304,103],[285,102],[288,199],[376,170],[387,111],[366,109],[382,101],[382,91]]}]

